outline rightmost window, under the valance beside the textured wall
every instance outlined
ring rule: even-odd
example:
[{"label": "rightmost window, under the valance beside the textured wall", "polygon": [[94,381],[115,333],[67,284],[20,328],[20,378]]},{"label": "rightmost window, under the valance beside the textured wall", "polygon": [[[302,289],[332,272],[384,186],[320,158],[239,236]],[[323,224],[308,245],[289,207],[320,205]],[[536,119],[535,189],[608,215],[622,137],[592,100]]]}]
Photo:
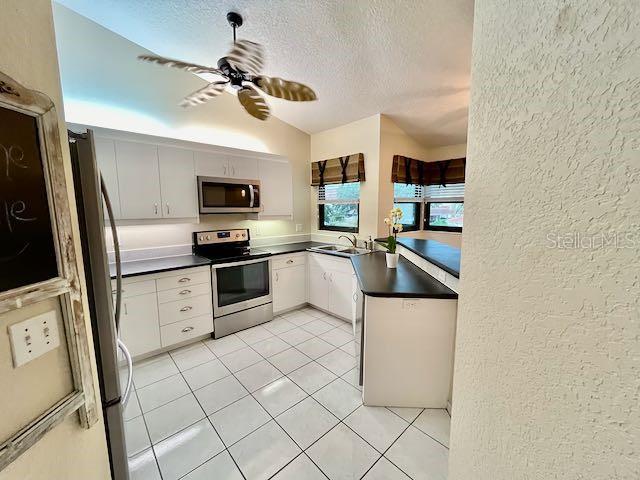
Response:
[{"label": "rightmost window, under the valance beside the textured wall", "polygon": [[461,232],[464,217],[464,183],[429,185],[425,192],[425,230]]}]

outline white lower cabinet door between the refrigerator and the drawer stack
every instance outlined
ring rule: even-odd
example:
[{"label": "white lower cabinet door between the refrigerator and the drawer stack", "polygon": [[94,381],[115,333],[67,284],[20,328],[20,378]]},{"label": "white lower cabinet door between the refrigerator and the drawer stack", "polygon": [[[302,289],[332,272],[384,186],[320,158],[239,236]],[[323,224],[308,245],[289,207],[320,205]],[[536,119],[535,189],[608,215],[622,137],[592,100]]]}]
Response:
[{"label": "white lower cabinet door between the refrigerator and the drawer stack", "polygon": [[122,300],[120,338],[134,357],[160,348],[160,324],[156,294]]}]

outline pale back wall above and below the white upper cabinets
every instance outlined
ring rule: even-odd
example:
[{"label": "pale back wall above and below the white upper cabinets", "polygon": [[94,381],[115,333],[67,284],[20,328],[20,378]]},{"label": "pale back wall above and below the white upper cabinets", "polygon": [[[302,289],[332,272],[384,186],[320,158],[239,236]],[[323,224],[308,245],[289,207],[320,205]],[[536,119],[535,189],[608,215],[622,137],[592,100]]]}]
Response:
[{"label": "pale back wall above and below the white upper cabinets", "polygon": [[[174,69],[140,62],[149,53],[81,15],[54,3],[56,40],[68,122],[273,153],[292,164],[293,220],[247,221],[244,216],[203,218],[196,224],[119,227],[123,248],[191,243],[191,232],[245,226],[252,236],[309,233],[310,137],[270,118],[249,116],[234,95],[184,109],[182,97],[204,80]],[[269,102],[279,101],[269,99]]]}]

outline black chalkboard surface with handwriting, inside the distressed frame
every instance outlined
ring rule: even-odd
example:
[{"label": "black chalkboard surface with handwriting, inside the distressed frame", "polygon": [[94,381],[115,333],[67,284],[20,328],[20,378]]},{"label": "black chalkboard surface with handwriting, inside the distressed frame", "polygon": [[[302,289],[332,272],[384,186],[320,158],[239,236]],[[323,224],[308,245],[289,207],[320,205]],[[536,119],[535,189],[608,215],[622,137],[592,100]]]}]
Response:
[{"label": "black chalkboard surface with handwriting, inside the distressed frame", "polygon": [[59,276],[36,118],[0,107],[0,292]]}]

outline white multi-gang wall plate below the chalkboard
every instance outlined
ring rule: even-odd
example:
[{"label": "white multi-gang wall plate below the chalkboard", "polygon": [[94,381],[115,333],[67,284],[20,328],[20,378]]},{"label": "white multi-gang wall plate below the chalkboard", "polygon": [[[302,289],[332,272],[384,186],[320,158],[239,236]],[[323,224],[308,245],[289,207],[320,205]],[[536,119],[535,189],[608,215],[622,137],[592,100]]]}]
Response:
[{"label": "white multi-gang wall plate below the chalkboard", "polygon": [[60,346],[56,312],[37,315],[9,327],[13,367],[18,368]]}]

